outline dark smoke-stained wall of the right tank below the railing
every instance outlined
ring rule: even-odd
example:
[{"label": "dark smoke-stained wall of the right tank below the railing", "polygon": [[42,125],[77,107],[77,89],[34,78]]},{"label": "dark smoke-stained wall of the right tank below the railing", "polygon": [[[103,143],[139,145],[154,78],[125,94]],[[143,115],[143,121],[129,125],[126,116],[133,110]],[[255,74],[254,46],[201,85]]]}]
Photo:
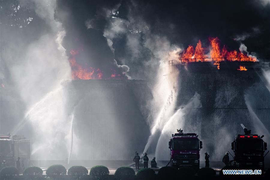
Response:
[{"label": "dark smoke-stained wall of the right tank below the railing", "polygon": [[[241,123],[255,134],[266,134],[264,141],[270,141],[270,94],[265,76],[269,61],[222,61],[220,69],[214,63],[178,60],[174,64],[169,61],[168,65],[170,71],[179,70],[178,107],[184,107],[199,94],[200,105],[188,110],[181,128],[197,132],[211,161],[221,161],[235,134],[242,131]],[[237,69],[243,63],[247,70]],[[269,157],[265,162],[269,162]]]}]

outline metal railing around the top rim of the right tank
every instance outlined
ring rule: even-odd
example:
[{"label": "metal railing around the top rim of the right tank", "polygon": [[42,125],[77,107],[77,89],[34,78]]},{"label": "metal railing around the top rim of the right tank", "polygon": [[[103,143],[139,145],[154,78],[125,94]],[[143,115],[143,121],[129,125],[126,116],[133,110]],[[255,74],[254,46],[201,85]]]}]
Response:
[{"label": "metal railing around the top rim of the right tank", "polygon": [[[270,68],[270,58],[257,58],[257,57],[218,57],[218,58],[182,58],[178,60],[169,60],[168,61],[168,69],[172,66],[176,66],[177,64],[186,64],[193,62],[239,62],[241,64],[252,65],[253,67],[264,67]],[[216,64],[214,64],[216,65]]]}]

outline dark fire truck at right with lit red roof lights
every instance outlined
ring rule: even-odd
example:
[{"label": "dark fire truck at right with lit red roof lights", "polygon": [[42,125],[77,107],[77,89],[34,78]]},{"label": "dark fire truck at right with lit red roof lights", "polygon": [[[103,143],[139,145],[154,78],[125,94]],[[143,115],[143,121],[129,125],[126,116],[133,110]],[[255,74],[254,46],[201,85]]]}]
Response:
[{"label": "dark fire truck at right with lit red roof lights", "polygon": [[243,124],[244,134],[235,136],[232,142],[232,150],[234,152],[234,164],[236,167],[245,169],[264,170],[264,155],[267,150],[267,143],[265,143],[262,136],[258,134],[251,134],[251,130],[247,130]]}]

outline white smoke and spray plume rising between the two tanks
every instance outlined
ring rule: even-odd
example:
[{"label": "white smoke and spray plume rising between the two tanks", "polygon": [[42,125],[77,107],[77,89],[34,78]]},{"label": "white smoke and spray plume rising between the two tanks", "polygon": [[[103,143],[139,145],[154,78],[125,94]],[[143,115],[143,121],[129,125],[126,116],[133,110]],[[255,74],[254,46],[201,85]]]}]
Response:
[{"label": "white smoke and spray plume rising between the two tanks", "polygon": [[[136,9],[136,2],[132,1],[132,6]],[[113,11],[111,11],[113,12]],[[117,9],[114,10],[117,12]],[[128,59],[122,58],[124,64],[137,62],[142,56],[142,49],[147,49],[151,52],[148,61],[142,61],[142,68],[139,68],[136,74],[131,77],[139,79],[142,74],[149,74],[150,79],[155,79],[156,84],[152,89],[153,101],[149,102],[150,115],[147,119],[150,126],[150,137],[143,152],[152,146],[152,143],[168,119],[173,115],[177,102],[178,86],[178,71],[169,74],[168,60],[178,59],[178,54],[181,49],[171,44],[166,37],[153,35],[149,29],[149,25],[140,16],[135,15],[136,10],[129,10],[128,19],[117,17],[117,13],[109,19],[110,25],[105,29],[104,36],[107,38],[108,45],[113,49],[113,39],[126,36],[126,47],[130,50]],[[143,37],[143,43],[142,41]],[[158,70],[157,70],[158,69]],[[155,74],[155,72],[158,72]]]}]

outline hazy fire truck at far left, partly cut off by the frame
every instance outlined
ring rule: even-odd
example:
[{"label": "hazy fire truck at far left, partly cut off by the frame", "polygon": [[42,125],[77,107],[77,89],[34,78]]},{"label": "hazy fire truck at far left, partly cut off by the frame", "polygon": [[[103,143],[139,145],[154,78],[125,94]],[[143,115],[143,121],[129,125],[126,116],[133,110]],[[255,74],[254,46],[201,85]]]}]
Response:
[{"label": "hazy fire truck at far left, partly cut off by the frame", "polygon": [[14,135],[0,136],[0,161],[3,166],[16,166],[16,161],[20,157],[24,167],[30,166],[30,140],[24,136]]}]

